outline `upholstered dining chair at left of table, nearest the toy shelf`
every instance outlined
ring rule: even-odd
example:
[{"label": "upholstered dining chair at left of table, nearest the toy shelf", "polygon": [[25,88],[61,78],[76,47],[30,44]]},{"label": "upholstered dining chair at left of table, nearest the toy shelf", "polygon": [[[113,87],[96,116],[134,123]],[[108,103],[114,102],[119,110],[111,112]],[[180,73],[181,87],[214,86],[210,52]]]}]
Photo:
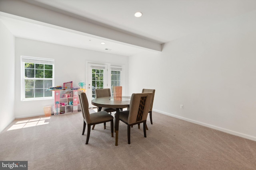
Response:
[{"label": "upholstered dining chair at left of table, nearest the toy shelf", "polygon": [[[81,104],[81,110],[82,115],[84,118],[84,128],[82,135],[84,135],[84,131],[87,125],[87,137],[86,137],[86,145],[88,144],[89,138],[90,138],[90,131],[91,131],[91,125],[96,125],[99,123],[106,123],[110,121],[110,128],[111,128],[111,136],[113,137],[114,133],[114,117],[110,115],[106,111],[98,111],[96,113],[89,113],[89,104],[88,99],[86,97],[86,94],[84,92],[78,92],[79,100]],[[106,129],[106,124],[104,124],[104,129]]]}]

